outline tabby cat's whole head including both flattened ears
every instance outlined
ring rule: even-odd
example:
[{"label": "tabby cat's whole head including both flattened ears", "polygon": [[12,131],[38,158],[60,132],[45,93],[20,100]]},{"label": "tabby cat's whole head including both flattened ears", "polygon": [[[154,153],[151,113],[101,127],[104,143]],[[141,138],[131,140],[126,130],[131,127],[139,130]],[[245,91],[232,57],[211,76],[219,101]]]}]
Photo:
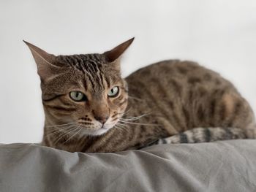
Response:
[{"label": "tabby cat's whole head including both flattened ears", "polygon": [[102,54],[58,56],[26,42],[41,79],[45,126],[79,126],[89,135],[113,128],[128,100],[119,58],[133,39]]}]

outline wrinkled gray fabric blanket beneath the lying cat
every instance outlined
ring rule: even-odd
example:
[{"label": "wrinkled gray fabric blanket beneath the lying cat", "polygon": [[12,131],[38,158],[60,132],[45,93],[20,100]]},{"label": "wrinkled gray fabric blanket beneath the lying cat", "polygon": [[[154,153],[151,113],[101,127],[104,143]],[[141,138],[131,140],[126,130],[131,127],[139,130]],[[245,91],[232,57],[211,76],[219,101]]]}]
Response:
[{"label": "wrinkled gray fabric blanket beneath the lying cat", "polygon": [[0,145],[0,191],[256,191],[256,140],[121,153]]}]

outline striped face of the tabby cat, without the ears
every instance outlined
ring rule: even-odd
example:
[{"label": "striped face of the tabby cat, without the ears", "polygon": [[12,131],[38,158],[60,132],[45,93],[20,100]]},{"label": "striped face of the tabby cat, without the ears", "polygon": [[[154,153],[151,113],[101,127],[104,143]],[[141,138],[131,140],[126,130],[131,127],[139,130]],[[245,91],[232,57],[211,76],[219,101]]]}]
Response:
[{"label": "striped face of the tabby cat, without the ears", "polygon": [[[104,134],[127,107],[127,85],[102,55],[58,56],[63,73],[42,83],[45,115],[53,125],[76,123],[84,134]],[[49,100],[50,99],[50,100]],[[70,124],[72,127],[72,124]]]}]

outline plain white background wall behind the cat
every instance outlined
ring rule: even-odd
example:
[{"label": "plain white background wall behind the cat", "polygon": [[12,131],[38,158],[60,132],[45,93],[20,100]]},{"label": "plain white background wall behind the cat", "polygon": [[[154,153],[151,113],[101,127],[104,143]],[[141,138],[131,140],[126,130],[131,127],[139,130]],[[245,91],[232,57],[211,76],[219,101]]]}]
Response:
[{"label": "plain white background wall behind the cat", "polygon": [[124,76],[168,58],[231,80],[256,111],[256,1],[0,1],[0,143],[39,142],[39,77],[25,39],[59,54],[102,53],[135,37]]}]

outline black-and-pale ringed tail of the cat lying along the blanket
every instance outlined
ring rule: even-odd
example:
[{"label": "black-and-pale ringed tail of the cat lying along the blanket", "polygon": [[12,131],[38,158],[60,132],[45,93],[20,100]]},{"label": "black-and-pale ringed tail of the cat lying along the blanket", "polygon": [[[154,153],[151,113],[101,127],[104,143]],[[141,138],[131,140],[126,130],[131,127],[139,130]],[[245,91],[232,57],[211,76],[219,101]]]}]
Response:
[{"label": "black-and-pale ringed tail of the cat lying along the blanket", "polygon": [[256,139],[256,125],[248,128],[192,128],[180,134],[159,139],[154,145],[168,143],[214,142],[229,139]]}]

